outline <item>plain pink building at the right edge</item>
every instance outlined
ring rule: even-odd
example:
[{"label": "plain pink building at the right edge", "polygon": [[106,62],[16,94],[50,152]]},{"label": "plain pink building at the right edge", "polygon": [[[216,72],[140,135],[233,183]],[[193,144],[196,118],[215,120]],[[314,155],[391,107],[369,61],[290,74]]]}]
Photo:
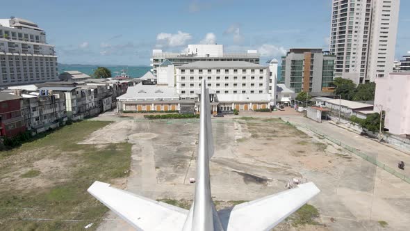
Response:
[{"label": "plain pink building at the right edge", "polygon": [[390,73],[375,82],[375,105],[383,105],[386,112],[384,127],[391,134],[410,135],[410,72]]}]

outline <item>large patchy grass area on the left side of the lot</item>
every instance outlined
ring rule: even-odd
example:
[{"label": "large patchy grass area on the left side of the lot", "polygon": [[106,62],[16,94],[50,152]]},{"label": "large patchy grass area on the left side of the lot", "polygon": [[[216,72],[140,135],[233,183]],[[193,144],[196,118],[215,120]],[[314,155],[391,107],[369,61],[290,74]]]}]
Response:
[{"label": "large patchy grass area on the left side of the lot", "polygon": [[[94,223],[90,230],[95,230],[108,208],[87,192],[88,187],[95,180],[110,183],[128,175],[131,164],[129,143],[109,144],[104,149],[99,148],[98,145],[78,144],[89,134],[108,124],[110,122],[89,120],[76,122],[38,140],[24,143],[14,150],[0,152],[0,163],[1,161],[15,163],[14,166],[3,165],[4,168],[0,168],[0,179],[5,173],[12,173],[15,168],[26,168],[42,159],[69,159],[71,163],[64,170],[61,169],[62,173],[53,172],[53,175],[47,175],[43,171],[42,178],[51,182],[48,186],[18,189],[13,186],[19,184],[18,180],[13,184],[2,185],[1,230],[83,230],[88,223]],[[33,208],[33,210],[23,208]],[[37,222],[22,219],[33,217],[57,221]],[[8,218],[17,219],[8,220]],[[65,219],[86,221],[62,221]]]}]

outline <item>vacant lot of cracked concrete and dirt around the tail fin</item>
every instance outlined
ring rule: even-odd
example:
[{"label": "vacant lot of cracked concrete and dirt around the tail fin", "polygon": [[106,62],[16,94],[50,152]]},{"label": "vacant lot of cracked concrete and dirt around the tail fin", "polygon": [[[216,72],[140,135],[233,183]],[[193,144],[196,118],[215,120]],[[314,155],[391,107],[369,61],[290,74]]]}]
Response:
[{"label": "vacant lot of cracked concrete and dirt around the tail fin", "polygon": [[[117,121],[95,132],[84,143],[132,143],[131,175],[126,190],[189,207],[194,185],[188,179],[195,177],[198,120],[129,117]],[[410,186],[384,170],[279,119],[212,121],[215,155],[211,159],[211,186],[218,203],[229,206],[278,193],[285,190],[286,182],[300,177],[315,182],[321,189],[320,195],[309,202],[318,209],[320,217],[315,224],[302,227],[287,221],[277,230],[409,227]],[[113,136],[119,127],[120,136]],[[186,201],[188,205],[184,204]],[[131,228],[109,213],[99,230]]]}]

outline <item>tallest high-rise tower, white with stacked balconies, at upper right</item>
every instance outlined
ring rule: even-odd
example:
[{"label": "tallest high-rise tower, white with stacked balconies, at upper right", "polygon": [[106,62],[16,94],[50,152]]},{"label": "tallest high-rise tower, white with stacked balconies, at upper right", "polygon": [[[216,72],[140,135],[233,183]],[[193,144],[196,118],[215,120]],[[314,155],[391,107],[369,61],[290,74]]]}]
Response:
[{"label": "tallest high-rise tower, white with stacked balconies, at upper right", "polygon": [[400,0],[333,0],[335,77],[375,81],[393,71]]}]

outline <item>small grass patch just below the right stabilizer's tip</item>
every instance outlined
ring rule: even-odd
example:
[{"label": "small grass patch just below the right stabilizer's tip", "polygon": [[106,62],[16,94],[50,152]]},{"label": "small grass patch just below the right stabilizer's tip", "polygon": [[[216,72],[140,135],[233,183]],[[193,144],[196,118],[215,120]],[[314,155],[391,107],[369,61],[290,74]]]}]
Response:
[{"label": "small grass patch just below the right stabilizer's tip", "polygon": [[304,205],[300,207],[294,214],[289,217],[292,225],[297,227],[299,225],[319,225],[315,218],[319,217],[318,209],[313,205]]}]

